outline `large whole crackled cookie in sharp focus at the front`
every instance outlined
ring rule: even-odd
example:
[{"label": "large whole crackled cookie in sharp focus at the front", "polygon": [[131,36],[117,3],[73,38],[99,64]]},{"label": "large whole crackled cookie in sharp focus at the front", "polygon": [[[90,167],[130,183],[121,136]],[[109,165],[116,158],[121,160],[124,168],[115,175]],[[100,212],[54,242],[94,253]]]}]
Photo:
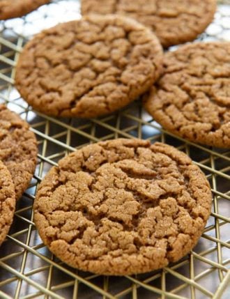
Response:
[{"label": "large whole crackled cookie in sharp focus at the front", "polygon": [[103,275],[145,273],[178,261],[210,215],[206,177],[166,144],[116,139],[59,161],[40,184],[34,220],[49,250]]}]

